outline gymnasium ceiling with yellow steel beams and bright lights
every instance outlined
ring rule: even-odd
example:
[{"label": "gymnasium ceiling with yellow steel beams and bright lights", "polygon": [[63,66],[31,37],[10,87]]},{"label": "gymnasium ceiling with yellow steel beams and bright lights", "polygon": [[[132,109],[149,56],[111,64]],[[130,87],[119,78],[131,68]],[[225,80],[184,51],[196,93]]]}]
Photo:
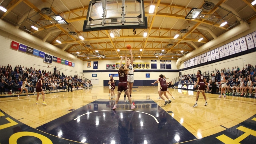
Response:
[{"label": "gymnasium ceiling with yellow steel beams and bright lights", "polygon": [[[221,5],[222,3],[230,5],[247,22],[250,22],[256,17],[256,5],[251,5],[252,0],[208,1],[213,2],[215,5]],[[67,25],[59,25],[57,27],[47,25],[44,28],[38,27],[38,30],[32,29],[31,26],[33,23],[31,20],[45,20],[45,17],[40,12],[31,17],[31,20],[27,19],[22,22],[20,29],[26,27],[30,32],[23,29],[24,31],[43,39],[50,30],[59,28],[60,31],[52,33],[46,39],[46,42],[60,49],[66,44],[69,44],[65,51],[79,55],[78,58],[81,60],[88,60],[88,58],[89,60],[118,60],[125,53],[129,54],[129,51],[125,48],[127,44],[132,45],[132,53],[134,54],[135,60],[177,60],[178,57],[181,57],[180,55],[164,55],[156,58],[154,53],[164,50],[164,53],[167,54],[186,54],[195,50],[195,47],[189,41],[194,42],[199,47],[213,39],[207,30],[198,29],[197,27],[199,25],[208,27],[216,36],[220,36],[222,33],[234,27],[230,24],[220,27],[220,24],[224,20],[234,23],[237,21],[234,14],[228,14],[227,11],[216,6],[211,10],[203,10],[205,14],[214,14],[216,16],[228,14],[228,16],[215,25],[213,25],[214,22],[211,20],[186,20],[184,17],[191,8],[202,8],[204,0],[144,0],[148,29],[136,29],[135,35],[133,35],[133,29],[123,29],[120,31],[120,37],[118,38],[111,38],[108,30],[83,32],[83,24],[84,20],[86,20],[89,0],[54,0],[53,3],[52,0],[4,0],[1,5],[7,8],[7,12],[0,12],[1,19],[16,26],[17,21],[27,11],[32,9],[37,9],[38,11],[37,6],[45,2],[52,4],[52,11],[54,13],[65,17],[66,21],[75,28],[77,35],[68,35],[68,31],[61,28]],[[152,4],[156,6],[155,11],[154,13],[149,13],[149,6]],[[184,28],[187,28],[189,31],[187,33],[180,33],[180,29]],[[148,32],[147,37],[143,37],[145,31]],[[176,34],[179,34],[178,38],[174,38]],[[83,36],[84,40],[81,40],[79,36]],[[201,37],[204,39],[199,42],[198,39]],[[57,43],[56,40],[60,40],[61,43]],[[91,47],[86,47],[87,44],[90,44]],[[167,46],[167,44],[173,45]],[[96,50],[101,55],[105,55],[106,58],[92,57],[91,55],[94,55]]]}]

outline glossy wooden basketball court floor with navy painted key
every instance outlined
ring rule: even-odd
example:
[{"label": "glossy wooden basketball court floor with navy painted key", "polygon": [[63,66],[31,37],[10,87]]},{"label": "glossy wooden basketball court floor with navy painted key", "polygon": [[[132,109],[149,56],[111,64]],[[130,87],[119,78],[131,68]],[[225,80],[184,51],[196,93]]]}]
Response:
[{"label": "glossy wooden basketball court floor with navy painted key", "polygon": [[[159,89],[157,86],[132,88],[137,113],[130,109],[128,101],[124,102],[124,92],[117,110],[112,111],[115,100],[110,100],[108,87],[46,92],[47,106],[42,105],[42,95],[36,105],[36,93],[30,98],[20,96],[20,99],[17,95],[0,95],[0,143],[11,143],[15,136],[20,137],[17,143],[47,139],[52,143],[73,144],[149,144],[161,140],[167,143],[256,143],[254,97],[218,98],[216,94],[206,93],[208,106],[204,106],[200,94],[198,107],[193,108],[196,92],[169,89],[175,100],[167,93],[172,103],[164,106],[163,100],[156,99]],[[117,95],[117,91],[115,93]],[[97,136],[102,131],[105,133]],[[15,133],[20,135],[14,136]]]}]

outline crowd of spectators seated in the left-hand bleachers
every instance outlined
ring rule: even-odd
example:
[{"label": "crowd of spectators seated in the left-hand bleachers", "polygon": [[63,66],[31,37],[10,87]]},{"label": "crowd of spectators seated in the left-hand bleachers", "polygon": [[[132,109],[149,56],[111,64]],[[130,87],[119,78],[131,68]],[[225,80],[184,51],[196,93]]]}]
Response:
[{"label": "crowd of spectators seated in the left-hand bleachers", "polygon": [[[44,91],[61,91],[61,90],[67,90],[67,80],[68,76],[65,76],[63,73],[60,75],[60,73],[56,73],[56,67],[54,68],[54,74],[51,71],[46,72],[46,70],[36,70],[32,67],[21,67],[15,66],[14,69],[12,68],[12,65],[7,65],[1,67],[0,65],[0,92],[1,94],[6,94],[5,89],[8,89],[9,94],[19,93],[22,82],[25,80],[25,78],[28,78],[28,85],[26,86],[29,92],[33,92],[35,90],[35,85],[38,80],[38,76],[40,74],[43,75],[44,81],[43,81],[43,89]],[[73,88],[82,89],[84,87],[90,87],[92,86],[91,81],[87,80],[81,80],[77,77],[77,75],[74,76],[73,79]]]}]

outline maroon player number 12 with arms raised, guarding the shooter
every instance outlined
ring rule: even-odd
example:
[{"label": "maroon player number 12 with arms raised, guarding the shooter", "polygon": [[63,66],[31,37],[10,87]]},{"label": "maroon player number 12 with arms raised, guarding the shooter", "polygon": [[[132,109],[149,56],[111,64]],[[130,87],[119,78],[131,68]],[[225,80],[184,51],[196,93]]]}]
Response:
[{"label": "maroon player number 12 with arms raised, guarding the shooter", "polygon": [[[121,58],[121,64],[122,64],[122,61],[124,60],[124,57]],[[125,55],[125,61],[127,61],[127,56]],[[118,83],[118,88],[117,88],[117,97],[116,97],[116,103],[115,103],[115,106],[114,108],[112,109],[116,109],[116,105],[118,103],[118,100],[120,98],[120,95],[122,93],[122,91],[124,90],[124,93],[127,95],[128,97],[128,100],[129,100],[129,103],[131,105],[131,109],[135,108],[135,106],[132,104],[132,98],[130,96],[130,92],[129,92],[129,89],[127,87],[127,74],[128,74],[128,71],[129,69],[127,69],[127,65],[124,65],[121,66],[119,68],[119,71],[118,71],[118,77],[119,77],[119,83]]]}]

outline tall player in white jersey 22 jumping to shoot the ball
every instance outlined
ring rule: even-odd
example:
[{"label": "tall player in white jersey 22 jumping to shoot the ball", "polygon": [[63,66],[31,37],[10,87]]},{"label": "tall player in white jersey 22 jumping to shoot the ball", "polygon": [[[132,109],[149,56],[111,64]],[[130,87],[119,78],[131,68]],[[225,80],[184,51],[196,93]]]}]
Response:
[{"label": "tall player in white jersey 22 jumping to shoot the ball", "polygon": [[[130,97],[132,98],[132,86],[133,86],[133,82],[134,82],[134,72],[133,72],[133,56],[132,56],[132,48],[129,50],[130,54],[131,54],[131,61],[128,58],[127,61],[125,62],[125,65],[127,65],[127,68],[129,69],[129,74],[127,76],[127,85],[130,91]],[[124,95],[124,102],[126,102],[125,100],[126,98],[126,94]]]}]

